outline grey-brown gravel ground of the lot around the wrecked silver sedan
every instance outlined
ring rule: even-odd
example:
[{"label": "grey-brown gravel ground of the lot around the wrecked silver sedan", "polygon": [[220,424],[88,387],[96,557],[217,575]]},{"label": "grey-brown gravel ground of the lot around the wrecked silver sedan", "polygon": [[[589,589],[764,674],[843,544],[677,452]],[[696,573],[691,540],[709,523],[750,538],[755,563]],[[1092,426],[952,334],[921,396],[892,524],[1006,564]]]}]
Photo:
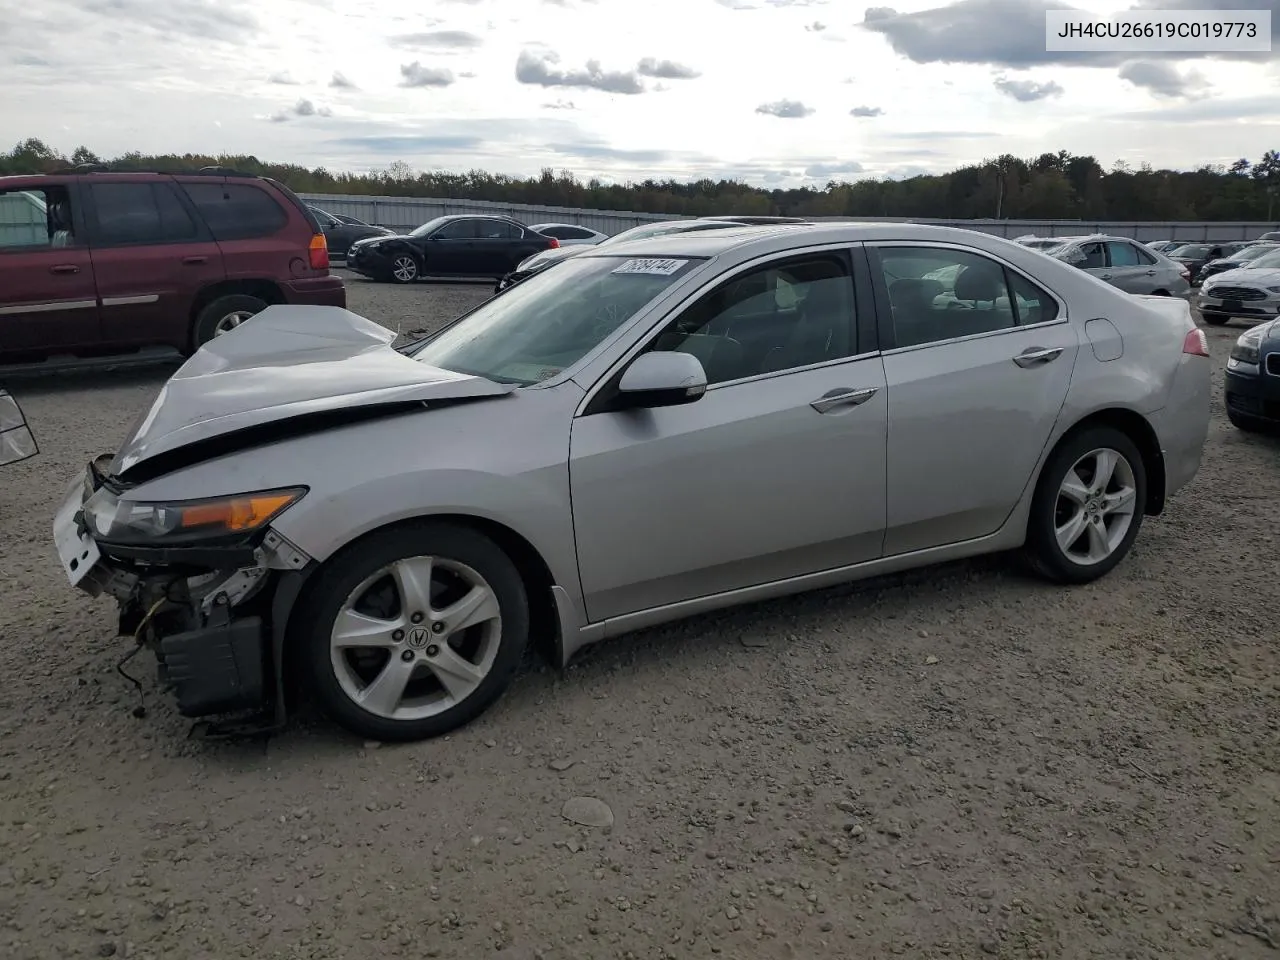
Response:
[{"label": "grey-brown gravel ground of the lot around the wrecked silver sedan", "polygon": [[[408,332],[486,293],[351,305]],[[0,956],[1276,956],[1280,444],[1220,402],[1100,584],[988,558],[703,617],[378,749],[187,740],[150,655],[131,716],[49,524],[165,374],[10,383],[44,452],[0,479]]]}]

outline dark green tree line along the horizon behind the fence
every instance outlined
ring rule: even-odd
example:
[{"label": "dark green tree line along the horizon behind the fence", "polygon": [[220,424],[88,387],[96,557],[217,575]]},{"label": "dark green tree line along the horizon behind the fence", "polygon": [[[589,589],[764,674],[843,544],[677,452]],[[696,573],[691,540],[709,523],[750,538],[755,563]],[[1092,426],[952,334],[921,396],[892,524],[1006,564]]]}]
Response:
[{"label": "dark green tree line along the horizon behind the fence", "polygon": [[323,166],[278,164],[256,156],[133,151],[109,160],[87,147],[65,156],[40,140],[26,140],[0,154],[0,175],[55,173],[76,164],[105,163],[120,170],[182,172],[229,166],[271,177],[298,193],[489,200],[591,210],[709,216],[763,214],[786,216],[900,216],[1083,220],[1266,220],[1277,210],[1280,152],[1256,161],[1196,170],[1157,170],[1116,163],[1103,169],[1092,156],[1066,150],[1020,159],[1005,154],[950,173],[905,179],[831,180],[822,188],[764,189],[735,179],[682,182],[673,178],[605,183],[582,180],[567,170],[539,177],[507,177],[471,170],[416,170],[397,160],[371,173],[335,173]]}]

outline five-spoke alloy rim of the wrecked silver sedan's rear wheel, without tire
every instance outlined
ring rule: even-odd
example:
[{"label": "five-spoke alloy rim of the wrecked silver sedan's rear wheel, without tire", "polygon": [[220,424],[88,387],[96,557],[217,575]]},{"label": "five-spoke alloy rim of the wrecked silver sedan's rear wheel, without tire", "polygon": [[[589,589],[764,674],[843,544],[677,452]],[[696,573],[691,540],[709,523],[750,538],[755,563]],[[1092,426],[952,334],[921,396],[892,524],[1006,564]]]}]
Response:
[{"label": "five-spoke alloy rim of the wrecked silver sedan's rear wheel, without tire", "polygon": [[1107,559],[1134,521],[1138,488],[1133,465],[1119,451],[1091,451],[1066,471],[1053,511],[1062,553],[1080,566]]}]

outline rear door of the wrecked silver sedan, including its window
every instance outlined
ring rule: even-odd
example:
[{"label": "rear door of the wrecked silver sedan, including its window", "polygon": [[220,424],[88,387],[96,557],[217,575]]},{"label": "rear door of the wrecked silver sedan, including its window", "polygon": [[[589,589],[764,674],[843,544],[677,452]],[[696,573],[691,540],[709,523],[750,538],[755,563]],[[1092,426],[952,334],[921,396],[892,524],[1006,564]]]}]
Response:
[{"label": "rear door of the wrecked silver sedan, including its window", "polygon": [[1075,328],[1046,291],[975,251],[886,243],[872,260],[881,342],[896,344],[884,352],[884,556],[993,534],[1066,401]]}]

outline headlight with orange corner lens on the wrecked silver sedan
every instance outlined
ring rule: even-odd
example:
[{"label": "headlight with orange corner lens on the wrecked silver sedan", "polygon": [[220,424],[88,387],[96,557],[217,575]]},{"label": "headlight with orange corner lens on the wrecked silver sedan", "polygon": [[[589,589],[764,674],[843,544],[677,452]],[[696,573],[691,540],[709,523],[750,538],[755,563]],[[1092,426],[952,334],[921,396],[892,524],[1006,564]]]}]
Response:
[{"label": "headlight with orange corner lens on the wrecked silver sedan", "polygon": [[262,530],[297,503],[307,488],[261,490],[202,500],[164,503],[120,499],[108,488],[84,503],[84,522],[106,543],[180,547],[241,539]]}]

